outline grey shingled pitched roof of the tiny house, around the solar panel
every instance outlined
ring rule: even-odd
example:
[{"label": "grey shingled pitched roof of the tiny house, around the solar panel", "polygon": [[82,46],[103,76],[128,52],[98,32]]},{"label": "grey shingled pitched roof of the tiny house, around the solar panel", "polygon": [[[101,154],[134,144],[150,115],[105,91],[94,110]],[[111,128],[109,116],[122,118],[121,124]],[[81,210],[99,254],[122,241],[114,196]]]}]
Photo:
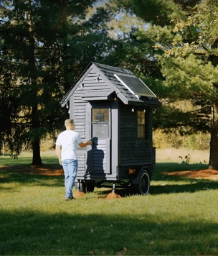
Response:
[{"label": "grey shingled pitched roof of the tiny house, around the solar panel", "polygon": [[[129,105],[141,105],[145,106],[147,104],[151,104],[154,106],[161,106],[161,103],[156,99],[156,97],[148,97],[148,96],[136,96],[133,94],[133,92],[125,86],[125,83],[122,83],[116,76],[126,76],[127,78],[136,78],[136,76],[133,75],[133,73],[130,70],[124,69],[124,68],[118,68],[118,67],[113,67],[110,65],[104,65],[100,63],[90,63],[87,65],[87,68],[84,70],[84,72],[81,74],[80,78],[77,79],[75,84],[72,86],[70,91],[67,92],[65,97],[60,101],[60,104],[62,106],[65,106],[67,104],[67,101],[70,99],[72,96],[73,92],[77,88],[77,83],[78,81],[81,81],[82,78],[84,78],[90,68],[97,68],[100,76],[103,76],[105,81],[108,82],[108,86],[110,87],[111,91],[115,91],[117,94],[118,98],[123,101],[124,104],[129,104]],[[116,76],[115,76],[116,75]],[[138,79],[138,78],[136,78]],[[139,80],[138,80],[139,81]],[[150,90],[150,89],[148,89]],[[110,92],[111,92],[110,91]],[[151,91],[151,90],[150,90]],[[153,93],[153,92],[151,92]],[[155,96],[155,94],[153,94]]]}]

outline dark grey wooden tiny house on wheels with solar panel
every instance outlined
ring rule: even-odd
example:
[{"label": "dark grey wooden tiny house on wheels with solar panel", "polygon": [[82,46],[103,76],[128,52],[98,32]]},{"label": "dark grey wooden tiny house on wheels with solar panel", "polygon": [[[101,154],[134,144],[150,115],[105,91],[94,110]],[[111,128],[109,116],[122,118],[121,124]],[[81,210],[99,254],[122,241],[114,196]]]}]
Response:
[{"label": "dark grey wooden tiny house on wheels with solar panel", "polygon": [[161,103],[130,70],[90,63],[60,102],[92,146],[77,149],[79,191],[112,183],[146,195],[155,170],[152,115]]}]

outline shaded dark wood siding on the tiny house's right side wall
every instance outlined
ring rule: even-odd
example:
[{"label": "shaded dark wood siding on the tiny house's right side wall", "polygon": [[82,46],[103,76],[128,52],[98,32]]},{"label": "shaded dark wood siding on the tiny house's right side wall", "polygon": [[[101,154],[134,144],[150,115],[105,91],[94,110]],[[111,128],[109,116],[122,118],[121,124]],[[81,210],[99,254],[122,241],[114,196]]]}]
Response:
[{"label": "shaded dark wood siding on the tiny house's right side wall", "polygon": [[151,109],[146,109],[147,137],[137,137],[137,107],[120,102],[119,111],[119,166],[152,163]]}]

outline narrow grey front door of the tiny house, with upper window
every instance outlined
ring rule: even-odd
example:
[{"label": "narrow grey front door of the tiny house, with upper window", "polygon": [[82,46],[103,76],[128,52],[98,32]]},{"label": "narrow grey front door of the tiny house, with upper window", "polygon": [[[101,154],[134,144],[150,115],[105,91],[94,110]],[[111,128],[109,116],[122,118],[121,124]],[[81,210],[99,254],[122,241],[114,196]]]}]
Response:
[{"label": "narrow grey front door of the tiny house, with upper window", "polygon": [[93,168],[90,173],[110,174],[110,116],[109,107],[92,107]]}]

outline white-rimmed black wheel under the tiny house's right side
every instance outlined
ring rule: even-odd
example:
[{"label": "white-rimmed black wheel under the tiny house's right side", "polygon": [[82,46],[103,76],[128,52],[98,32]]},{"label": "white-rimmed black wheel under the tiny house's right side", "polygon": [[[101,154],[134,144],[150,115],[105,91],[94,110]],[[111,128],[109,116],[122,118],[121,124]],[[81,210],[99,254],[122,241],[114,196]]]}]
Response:
[{"label": "white-rimmed black wheel under the tiny house's right side", "polygon": [[133,191],[133,193],[139,193],[145,196],[148,194],[150,184],[151,178],[148,170],[141,170],[141,172],[138,174],[138,183],[131,183],[131,191]]}]

